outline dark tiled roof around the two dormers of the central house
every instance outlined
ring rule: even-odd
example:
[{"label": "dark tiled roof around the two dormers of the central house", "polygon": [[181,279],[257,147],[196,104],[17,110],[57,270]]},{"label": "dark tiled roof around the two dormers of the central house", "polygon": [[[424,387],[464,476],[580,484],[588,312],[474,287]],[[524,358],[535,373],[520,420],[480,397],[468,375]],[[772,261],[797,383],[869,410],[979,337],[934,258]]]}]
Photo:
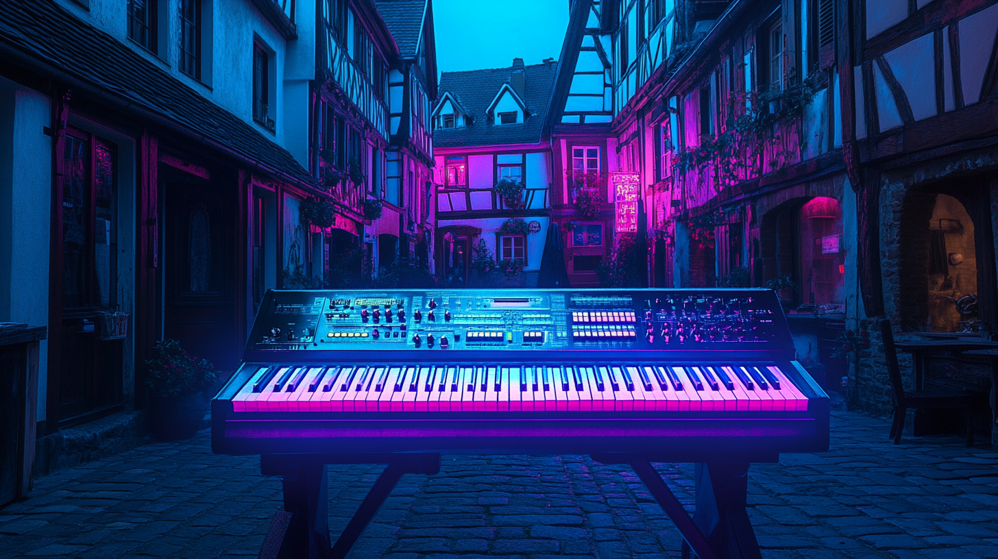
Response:
[{"label": "dark tiled roof around the two dormers of the central house", "polygon": [[[464,128],[433,131],[433,146],[456,148],[493,144],[536,144],[541,141],[545,113],[555,80],[555,63],[525,67],[523,101],[530,116],[522,124],[489,124],[485,114],[503,84],[510,82],[512,68],[444,72],[440,76],[437,99],[450,92],[474,122]],[[436,104],[434,103],[434,109]]]}]

